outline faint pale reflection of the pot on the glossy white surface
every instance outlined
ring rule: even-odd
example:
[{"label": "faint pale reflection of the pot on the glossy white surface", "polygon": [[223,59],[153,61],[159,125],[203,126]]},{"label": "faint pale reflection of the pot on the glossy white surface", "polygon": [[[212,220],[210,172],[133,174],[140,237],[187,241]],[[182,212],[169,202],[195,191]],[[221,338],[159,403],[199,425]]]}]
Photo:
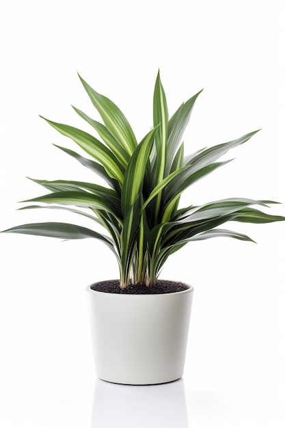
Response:
[{"label": "faint pale reflection of the pot on the glossy white surface", "polygon": [[183,379],[161,385],[96,379],[92,428],[189,428]]}]

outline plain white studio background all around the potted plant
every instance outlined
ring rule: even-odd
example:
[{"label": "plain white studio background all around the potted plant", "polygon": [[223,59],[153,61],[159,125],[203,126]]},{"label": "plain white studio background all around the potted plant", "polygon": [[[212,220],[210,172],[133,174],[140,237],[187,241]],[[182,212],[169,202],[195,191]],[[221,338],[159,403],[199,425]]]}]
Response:
[{"label": "plain white studio background all around the potted plant", "polygon": [[[262,129],[189,189],[187,204],[285,202],[282,0],[0,5],[1,230],[65,219],[16,211],[44,193],[25,176],[94,178],[52,146],[76,150],[38,117],[85,129],[70,107],[92,113],[77,71],[120,106],[139,139],[151,126],[159,68],[169,113],[204,88],[187,154]],[[271,211],[285,214],[284,205]],[[94,373],[85,286],[118,277],[111,252],[92,240],[1,235],[1,427],[284,427],[284,224],[229,226],[258,244],[202,241],[169,259],[161,278],[195,288],[185,375],[139,388]]]}]

